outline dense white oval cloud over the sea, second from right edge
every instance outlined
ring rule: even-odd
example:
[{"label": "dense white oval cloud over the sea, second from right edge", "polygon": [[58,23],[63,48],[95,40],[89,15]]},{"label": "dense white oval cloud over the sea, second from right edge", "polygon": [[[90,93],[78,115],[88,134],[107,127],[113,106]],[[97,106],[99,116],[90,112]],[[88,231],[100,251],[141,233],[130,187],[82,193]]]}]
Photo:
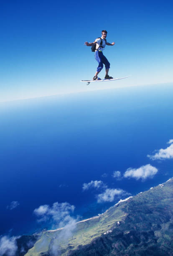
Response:
[{"label": "dense white oval cloud over the sea, second from right edge", "polygon": [[155,168],[150,164],[147,164],[137,169],[128,168],[124,174],[124,177],[135,178],[135,179],[146,179],[146,178],[152,178],[157,172],[158,172],[157,168]]}]

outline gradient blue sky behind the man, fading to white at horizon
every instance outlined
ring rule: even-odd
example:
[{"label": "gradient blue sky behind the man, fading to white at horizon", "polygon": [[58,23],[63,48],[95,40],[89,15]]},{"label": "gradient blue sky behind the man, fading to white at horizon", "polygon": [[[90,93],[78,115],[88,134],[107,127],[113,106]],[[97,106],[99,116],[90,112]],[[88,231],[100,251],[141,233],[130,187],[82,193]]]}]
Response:
[{"label": "gradient blue sky behind the man, fading to white at horizon", "polygon": [[[168,0],[1,1],[0,101],[173,82],[172,13]],[[102,29],[110,75],[132,76],[86,87],[97,62],[84,41]]]}]

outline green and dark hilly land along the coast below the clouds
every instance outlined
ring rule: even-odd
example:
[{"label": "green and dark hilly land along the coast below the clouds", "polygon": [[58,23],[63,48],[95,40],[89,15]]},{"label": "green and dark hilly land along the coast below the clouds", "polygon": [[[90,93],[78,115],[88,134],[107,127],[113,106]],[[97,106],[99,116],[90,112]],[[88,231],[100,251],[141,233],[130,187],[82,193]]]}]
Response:
[{"label": "green and dark hilly land along the coast below the clouds", "polygon": [[173,255],[173,179],[64,232],[43,231],[25,255]]}]

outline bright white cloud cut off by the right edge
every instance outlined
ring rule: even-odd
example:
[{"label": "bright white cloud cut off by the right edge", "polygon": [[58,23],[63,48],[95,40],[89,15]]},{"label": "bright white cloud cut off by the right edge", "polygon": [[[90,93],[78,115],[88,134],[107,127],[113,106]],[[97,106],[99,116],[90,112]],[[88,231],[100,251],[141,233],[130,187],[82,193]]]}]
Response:
[{"label": "bright white cloud cut off by the right edge", "polygon": [[147,156],[152,160],[172,159],[173,158],[173,139],[169,140],[168,144],[170,144],[168,148],[165,148],[165,149],[161,148],[154,155],[147,155]]}]

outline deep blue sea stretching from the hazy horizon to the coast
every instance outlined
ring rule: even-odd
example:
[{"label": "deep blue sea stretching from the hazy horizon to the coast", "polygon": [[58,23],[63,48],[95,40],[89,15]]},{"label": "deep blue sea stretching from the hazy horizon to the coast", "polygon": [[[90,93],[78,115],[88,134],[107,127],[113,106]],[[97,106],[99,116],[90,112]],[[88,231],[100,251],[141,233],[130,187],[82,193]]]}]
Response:
[{"label": "deep blue sea stretching from the hazy horizon to the coast", "polygon": [[[173,84],[0,103],[0,234],[50,228],[36,221],[40,205],[68,202],[85,219],[120,200],[98,203],[97,189],[82,191],[92,180],[131,195],[165,182],[173,177],[173,159],[147,155],[170,139]],[[158,169],[153,178],[112,177],[146,164]],[[18,206],[10,210],[13,201]]]}]

